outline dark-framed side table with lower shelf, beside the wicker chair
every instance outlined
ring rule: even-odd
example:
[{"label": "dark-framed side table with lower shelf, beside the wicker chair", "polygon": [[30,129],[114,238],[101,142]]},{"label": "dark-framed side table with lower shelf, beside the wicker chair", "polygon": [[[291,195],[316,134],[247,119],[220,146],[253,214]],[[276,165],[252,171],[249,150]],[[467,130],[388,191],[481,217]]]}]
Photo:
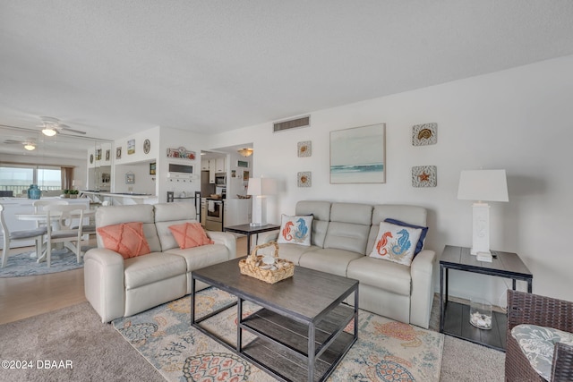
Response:
[{"label": "dark-framed side table with lower shelf, beside the wicker chair", "polygon": [[492,250],[492,256],[492,262],[478,261],[469,248],[446,245],[440,257],[440,333],[505,352],[507,316],[504,313],[492,312],[492,329],[478,329],[469,323],[468,305],[448,301],[449,269],[510,278],[513,290],[517,280],[526,281],[527,292],[532,292],[534,276],[517,253]]}]

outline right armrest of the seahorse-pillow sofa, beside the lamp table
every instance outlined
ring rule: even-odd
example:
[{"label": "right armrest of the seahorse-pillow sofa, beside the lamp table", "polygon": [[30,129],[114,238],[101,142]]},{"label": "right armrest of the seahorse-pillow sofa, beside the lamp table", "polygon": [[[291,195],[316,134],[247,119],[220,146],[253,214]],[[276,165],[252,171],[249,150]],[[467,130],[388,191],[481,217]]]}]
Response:
[{"label": "right armrest of the seahorse-pillow sofa, beside the lamp table", "polygon": [[432,312],[432,274],[435,260],[436,252],[422,250],[416,255],[410,266],[412,276],[410,323],[425,329],[430,325],[430,313]]}]

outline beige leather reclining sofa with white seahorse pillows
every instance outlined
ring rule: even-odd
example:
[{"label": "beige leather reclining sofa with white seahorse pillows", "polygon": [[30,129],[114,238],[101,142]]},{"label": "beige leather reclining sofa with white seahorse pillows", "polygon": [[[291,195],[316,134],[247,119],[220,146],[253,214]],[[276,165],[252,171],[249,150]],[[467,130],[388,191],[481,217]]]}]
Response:
[{"label": "beige leather reclining sofa with white seahorse pillows", "polygon": [[[426,225],[426,209],[405,205],[368,205],[299,201],[295,215],[312,215],[311,246],[279,244],[278,255],[310,267],[360,281],[360,309],[427,328],[432,310],[433,250],[422,250],[410,267],[368,256],[386,218]],[[262,242],[277,240],[266,234]],[[348,299],[354,303],[354,297]]]}]

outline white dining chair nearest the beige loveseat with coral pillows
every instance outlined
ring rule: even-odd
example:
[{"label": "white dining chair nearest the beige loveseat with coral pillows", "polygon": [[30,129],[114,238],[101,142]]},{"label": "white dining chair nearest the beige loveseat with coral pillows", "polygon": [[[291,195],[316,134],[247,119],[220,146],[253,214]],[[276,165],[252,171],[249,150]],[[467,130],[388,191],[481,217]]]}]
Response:
[{"label": "white dining chair nearest the beige loveseat with coral pillows", "polygon": [[81,262],[81,223],[85,209],[86,206],[84,205],[74,204],[50,204],[44,207],[47,222],[57,223],[57,225],[47,225],[47,267],[51,265],[52,244],[57,242],[64,243],[66,248],[75,253],[78,263]]}]

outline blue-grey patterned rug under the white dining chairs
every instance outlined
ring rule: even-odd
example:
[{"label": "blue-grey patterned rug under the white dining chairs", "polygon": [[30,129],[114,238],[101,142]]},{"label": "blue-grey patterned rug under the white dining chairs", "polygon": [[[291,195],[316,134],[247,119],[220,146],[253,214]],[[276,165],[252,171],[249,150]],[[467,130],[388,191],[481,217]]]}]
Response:
[{"label": "blue-grey patterned rug under the white dining chairs", "polygon": [[67,248],[52,251],[50,267],[47,267],[46,261],[36,262],[35,256],[33,251],[10,255],[6,266],[0,268],[0,277],[38,276],[83,267],[83,262],[78,264],[75,253]]}]

